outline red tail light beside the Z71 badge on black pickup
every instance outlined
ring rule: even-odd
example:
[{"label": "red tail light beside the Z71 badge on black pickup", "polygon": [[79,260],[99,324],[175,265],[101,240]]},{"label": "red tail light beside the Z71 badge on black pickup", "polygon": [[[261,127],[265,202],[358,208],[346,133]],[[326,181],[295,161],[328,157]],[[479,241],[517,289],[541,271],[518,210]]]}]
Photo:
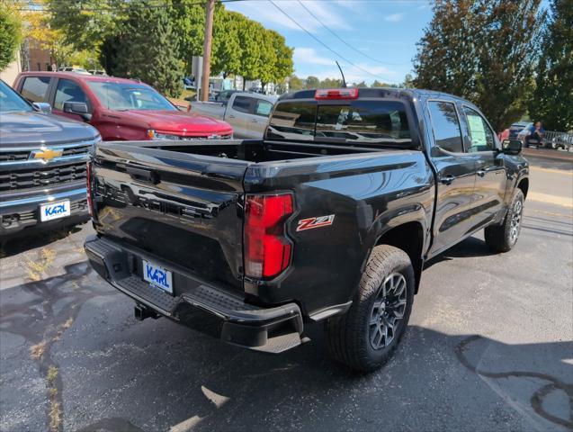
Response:
[{"label": "red tail light beside the Z71 badge on black pickup", "polygon": [[292,245],[284,221],[292,214],[292,195],[246,195],[245,274],[279,275],[291,264]]}]

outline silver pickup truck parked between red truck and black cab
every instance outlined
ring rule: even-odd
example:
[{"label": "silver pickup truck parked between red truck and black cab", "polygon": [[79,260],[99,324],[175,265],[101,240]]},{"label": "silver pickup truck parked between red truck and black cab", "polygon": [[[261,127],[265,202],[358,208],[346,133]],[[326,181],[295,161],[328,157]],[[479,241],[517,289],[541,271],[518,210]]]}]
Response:
[{"label": "silver pickup truck parked between red truck and black cab", "polygon": [[227,121],[233,137],[262,139],[276,97],[256,93],[233,93],[225,102],[192,102],[192,112]]}]

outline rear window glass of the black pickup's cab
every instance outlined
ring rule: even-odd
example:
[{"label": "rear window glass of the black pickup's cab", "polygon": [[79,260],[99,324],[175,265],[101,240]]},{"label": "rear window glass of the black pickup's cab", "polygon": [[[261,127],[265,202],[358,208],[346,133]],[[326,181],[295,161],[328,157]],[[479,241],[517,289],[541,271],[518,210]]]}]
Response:
[{"label": "rear window glass of the black pickup's cab", "polygon": [[406,107],[398,101],[357,100],[341,104],[279,103],[269,139],[330,140],[409,144]]}]

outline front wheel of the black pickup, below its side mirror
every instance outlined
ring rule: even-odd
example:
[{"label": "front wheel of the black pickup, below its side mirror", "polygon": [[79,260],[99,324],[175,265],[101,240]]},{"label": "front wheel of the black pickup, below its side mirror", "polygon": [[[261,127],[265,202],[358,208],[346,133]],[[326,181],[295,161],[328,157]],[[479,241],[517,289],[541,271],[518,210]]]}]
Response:
[{"label": "front wheel of the black pickup, below its side mirror", "polygon": [[517,243],[521,232],[524,213],[524,193],[515,189],[514,198],[509,204],[506,219],[501,225],[491,225],[484,230],[486,244],[495,252],[508,252]]}]

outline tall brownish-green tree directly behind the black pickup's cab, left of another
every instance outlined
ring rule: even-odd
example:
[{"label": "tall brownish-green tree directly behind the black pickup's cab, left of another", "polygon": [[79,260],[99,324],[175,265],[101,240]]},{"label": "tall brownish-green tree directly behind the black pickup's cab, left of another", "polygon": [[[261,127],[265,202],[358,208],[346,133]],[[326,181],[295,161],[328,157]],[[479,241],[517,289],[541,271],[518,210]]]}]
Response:
[{"label": "tall brownish-green tree directly behind the black pickup's cab, left of another", "polygon": [[541,0],[436,0],[418,42],[416,87],[476,103],[496,130],[518,120],[535,70]]}]

